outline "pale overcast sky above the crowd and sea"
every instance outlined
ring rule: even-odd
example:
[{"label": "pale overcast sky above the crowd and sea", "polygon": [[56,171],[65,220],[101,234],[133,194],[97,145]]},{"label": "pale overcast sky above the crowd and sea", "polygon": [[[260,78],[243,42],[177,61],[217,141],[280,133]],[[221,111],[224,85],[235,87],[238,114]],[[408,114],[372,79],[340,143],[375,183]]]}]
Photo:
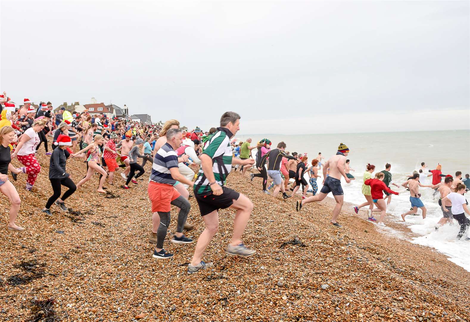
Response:
[{"label": "pale overcast sky above the crowd and sea", "polygon": [[469,3],[2,0],[0,91],[250,134],[469,129]]}]

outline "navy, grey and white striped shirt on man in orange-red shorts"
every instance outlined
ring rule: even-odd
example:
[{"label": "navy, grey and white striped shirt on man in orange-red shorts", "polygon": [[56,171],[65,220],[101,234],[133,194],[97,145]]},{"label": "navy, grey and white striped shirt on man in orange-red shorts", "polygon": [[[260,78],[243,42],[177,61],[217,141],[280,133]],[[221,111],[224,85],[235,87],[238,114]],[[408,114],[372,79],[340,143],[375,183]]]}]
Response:
[{"label": "navy, grey and white striped shirt on man in orange-red shorts", "polygon": [[165,143],[157,153],[155,153],[155,157],[153,158],[150,181],[174,185],[176,180],[172,178],[170,173],[171,168],[178,168],[178,156],[172,146]]}]

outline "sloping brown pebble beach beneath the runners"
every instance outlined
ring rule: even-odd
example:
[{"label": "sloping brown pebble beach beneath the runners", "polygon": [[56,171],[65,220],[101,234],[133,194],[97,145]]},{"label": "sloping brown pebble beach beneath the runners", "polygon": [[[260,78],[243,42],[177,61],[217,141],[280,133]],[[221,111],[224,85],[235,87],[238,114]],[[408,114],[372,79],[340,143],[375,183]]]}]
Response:
[{"label": "sloping brown pebble beach beneath the runners", "polygon": [[[52,194],[49,163],[38,154],[42,170],[33,191],[23,190],[24,176],[14,183],[24,233],[6,231],[9,202],[1,199],[1,321],[30,321],[37,314],[44,315],[37,321],[470,320],[469,272],[346,212],[338,219],[343,228],[333,227],[329,201],[296,212],[296,197],[274,199],[261,192],[260,180],[232,173],[227,185],[254,203],[243,242],[257,253],[225,254],[235,211],[224,209],[203,257],[214,266],[188,275],[195,243],[169,242],[174,209],[164,243],[174,258],[151,257],[150,165],[130,190],[120,188],[117,175],[114,186],[105,185],[108,195],[95,193],[95,175],[66,201],[73,211],[53,206],[46,217],[40,209]],[[67,169],[77,182],[86,166],[70,160]],[[196,228],[186,235],[197,240],[204,222],[194,197],[189,201],[188,222]],[[46,302],[48,308],[38,310]]]}]

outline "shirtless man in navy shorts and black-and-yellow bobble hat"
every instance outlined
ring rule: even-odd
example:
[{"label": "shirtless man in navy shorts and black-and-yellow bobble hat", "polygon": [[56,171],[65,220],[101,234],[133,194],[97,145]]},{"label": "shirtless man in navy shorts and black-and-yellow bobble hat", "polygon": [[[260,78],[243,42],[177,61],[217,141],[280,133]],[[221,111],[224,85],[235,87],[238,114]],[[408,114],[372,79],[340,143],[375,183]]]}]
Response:
[{"label": "shirtless man in navy shorts and black-and-yellow bobble hat", "polygon": [[[337,223],[336,219],[339,216],[339,211],[343,207],[343,188],[341,187],[341,177],[345,177],[346,183],[350,183],[351,179],[346,176],[345,172],[345,162],[346,156],[349,154],[349,148],[344,145],[340,144],[338,146],[338,152],[336,155],[329,158],[328,161],[323,165],[323,187],[321,191],[316,196],[308,197],[302,201],[297,201],[297,211],[302,209],[302,206],[305,203],[309,202],[317,202],[322,201],[325,199],[328,193],[333,193],[333,197],[336,200],[335,209],[333,209],[333,217],[331,218],[330,223],[335,227],[341,227],[339,223]],[[320,156],[320,154],[319,154]],[[318,158],[317,158],[318,160]],[[327,177],[327,170],[329,170],[329,176]]]}]

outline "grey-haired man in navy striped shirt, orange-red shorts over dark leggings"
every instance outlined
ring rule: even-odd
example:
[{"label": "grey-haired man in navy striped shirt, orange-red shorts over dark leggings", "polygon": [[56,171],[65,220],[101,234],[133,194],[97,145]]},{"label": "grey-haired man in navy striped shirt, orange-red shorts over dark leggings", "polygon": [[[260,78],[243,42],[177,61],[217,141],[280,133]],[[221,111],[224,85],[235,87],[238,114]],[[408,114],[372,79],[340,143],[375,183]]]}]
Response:
[{"label": "grey-haired man in navy striped shirt, orange-red shorts over dark leggings", "polygon": [[149,181],[149,199],[152,202],[152,235],[150,242],[157,246],[153,252],[153,258],[166,259],[173,257],[173,254],[163,249],[163,242],[170,225],[171,205],[180,208],[178,213],[178,225],[176,233],[171,242],[177,244],[187,244],[193,242],[183,234],[183,226],[188,217],[191,204],[186,198],[173,187],[176,181],[193,186],[193,182],[180,174],[178,170],[178,156],[174,151],[182,140],[180,129],[169,129],[166,132],[166,143],[155,153],[152,164],[152,173]]}]

